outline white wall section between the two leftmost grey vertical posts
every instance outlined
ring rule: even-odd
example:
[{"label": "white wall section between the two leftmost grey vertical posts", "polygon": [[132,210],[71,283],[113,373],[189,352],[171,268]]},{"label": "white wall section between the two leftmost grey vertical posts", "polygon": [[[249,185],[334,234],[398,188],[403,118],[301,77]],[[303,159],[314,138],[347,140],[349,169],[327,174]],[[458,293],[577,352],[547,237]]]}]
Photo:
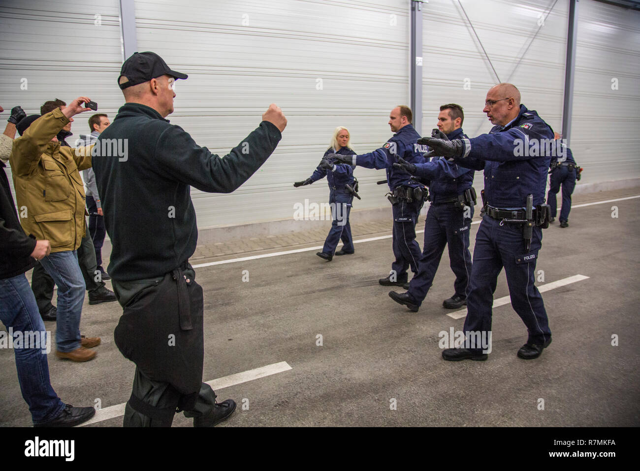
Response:
[{"label": "white wall section between the two leftmost grey vertical posts", "polygon": [[[227,154],[272,102],[289,120],[275,154],[236,192],[192,189],[198,226],[291,219],[296,202],[327,201],[326,180],[292,182],[310,176],[335,126],[349,128],[358,153],[392,135],[388,113],[408,101],[408,14],[406,1],[136,1],[138,49],[189,74],[169,119],[198,144]],[[375,184],[383,170],[355,174],[356,208],[388,205]]]}]

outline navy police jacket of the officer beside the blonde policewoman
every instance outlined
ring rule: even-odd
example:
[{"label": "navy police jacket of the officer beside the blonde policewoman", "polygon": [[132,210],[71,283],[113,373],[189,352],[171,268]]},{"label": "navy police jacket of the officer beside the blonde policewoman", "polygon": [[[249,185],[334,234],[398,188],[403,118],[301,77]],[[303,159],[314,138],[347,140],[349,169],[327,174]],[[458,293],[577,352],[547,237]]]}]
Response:
[{"label": "navy police jacket of the officer beside the blonde policewoman", "polygon": [[367,169],[386,169],[387,182],[390,190],[395,190],[399,186],[422,186],[411,179],[411,175],[401,169],[394,168],[394,163],[398,157],[410,163],[424,163],[422,154],[428,151],[426,145],[417,144],[420,135],[413,129],[411,124],[407,124],[396,134],[394,134],[386,144],[379,149],[368,153],[360,154],[353,158],[353,163],[366,167]]}]

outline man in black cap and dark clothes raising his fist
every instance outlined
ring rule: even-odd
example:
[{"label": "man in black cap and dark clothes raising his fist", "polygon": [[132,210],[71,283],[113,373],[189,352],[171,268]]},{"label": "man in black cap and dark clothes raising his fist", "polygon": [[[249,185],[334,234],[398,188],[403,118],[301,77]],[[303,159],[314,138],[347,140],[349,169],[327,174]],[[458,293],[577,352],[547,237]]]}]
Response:
[{"label": "man in black cap and dark clothes raising his fist", "polygon": [[[118,84],[127,103],[93,149],[93,170],[111,238],[113,289],[124,308],[114,340],[136,363],[125,426],[171,426],[176,409],[196,427],[229,417],[202,383],[202,288],[189,265],[198,239],[190,186],[230,193],[273,153],[287,119],[275,104],[230,154],[219,158],[164,119],[173,81],[186,79],[154,53],[134,53]],[[117,153],[114,152],[117,149]]]}]

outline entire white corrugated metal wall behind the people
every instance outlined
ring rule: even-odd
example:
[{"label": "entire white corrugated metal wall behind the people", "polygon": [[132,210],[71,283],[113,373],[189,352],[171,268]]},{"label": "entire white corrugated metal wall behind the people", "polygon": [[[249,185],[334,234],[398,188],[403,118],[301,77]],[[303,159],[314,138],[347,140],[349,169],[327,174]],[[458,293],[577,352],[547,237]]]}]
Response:
[{"label": "entire white corrugated metal wall behind the people", "polygon": [[[572,149],[586,167],[582,183],[639,177],[640,13],[579,5]],[[482,108],[497,78],[462,7],[500,80],[515,83],[523,103],[560,131],[568,0],[431,0],[422,7],[423,132],[449,102],[465,108],[468,135],[490,129]],[[289,119],[276,153],[234,194],[193,190],[200,227],[290,219],[295,202],[326,201],[324,181],[292,182],[311,174],[333,128],[347,126],[352,147],[371,151],[391,135],[391,108],[408,104],[408,0],[136,0],[135,8],[138,51],[156,51],[189,74],[169,118],[198,144],[226,154],[272,102]],[[47,99],[87,94],[113,119],[122,104],[116,0],[5,0],[0,28],[6,110],[21,104],[35,113]],[[76,136],[88,131],[88,116],[77,118]],[[385,187],[375,185],[381,170],[358,167],[356,176],[356,209],[388,206]]]}]

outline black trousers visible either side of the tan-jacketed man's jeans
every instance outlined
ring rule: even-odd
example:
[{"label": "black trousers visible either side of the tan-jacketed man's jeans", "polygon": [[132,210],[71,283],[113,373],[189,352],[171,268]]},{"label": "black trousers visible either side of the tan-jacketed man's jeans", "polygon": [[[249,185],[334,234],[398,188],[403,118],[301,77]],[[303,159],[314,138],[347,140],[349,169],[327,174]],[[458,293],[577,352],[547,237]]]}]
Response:
[{"label": "black trousers visible either side of the tan-jacketed man's jeans", "polygon": [[[80,265],[86,290],[88,292],[99,290],[104,286],[104,281],[96,274],[98,265],[95,262],[95,249],[93,248],[93,241],[91,240],[88,230],[86,230],[86,236],[82,238],[77,253],[78,265]],[[33,273],[31,274],[31,291],[33,291],[36,303],[38,303],[38,311],[40,311],[41,314],[53,308],[51,300],[53,299],[53,287],[55,285],[53,278],[45,272],[42,265],[36,263],[36,266],[33,267]]]}]

